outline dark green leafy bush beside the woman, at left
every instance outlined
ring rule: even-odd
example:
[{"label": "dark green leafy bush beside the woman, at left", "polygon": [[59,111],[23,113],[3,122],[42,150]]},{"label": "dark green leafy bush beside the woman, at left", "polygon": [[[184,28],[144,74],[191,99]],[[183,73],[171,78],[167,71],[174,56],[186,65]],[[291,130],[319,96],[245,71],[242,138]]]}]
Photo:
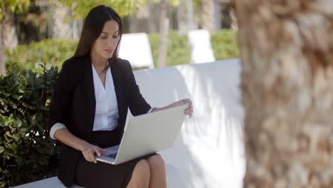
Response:
[{"label": "dark green leafy bush beside the woman, at left", "polygon": [[57,69],[0,77],[0,187],[56,175],[57,147],[46,115]]}]

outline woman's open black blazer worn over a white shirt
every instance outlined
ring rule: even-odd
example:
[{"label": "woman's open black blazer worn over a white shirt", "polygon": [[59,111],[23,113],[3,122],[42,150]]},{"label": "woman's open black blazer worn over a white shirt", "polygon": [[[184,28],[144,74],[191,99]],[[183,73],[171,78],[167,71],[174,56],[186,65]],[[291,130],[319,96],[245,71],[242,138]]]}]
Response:
[{"label": "woman's open black blazer worn over a white shirt", "polygon": [[[128,61],[117,59],[110,65],[118,103],[118,127],[124,132],[127,110],[132,115],[147,113],[151,106],[142,97]],[[110,69],[109,69],[110,70]],[[95,118],[95,89],[90,56],[70,58],[63,63],[53,90],[48,129],[63,123],[80,139],[90,142]],[[75,166],[83,157],[79,150],[61,145],[58,178],[66,187],[73,184]]]}]

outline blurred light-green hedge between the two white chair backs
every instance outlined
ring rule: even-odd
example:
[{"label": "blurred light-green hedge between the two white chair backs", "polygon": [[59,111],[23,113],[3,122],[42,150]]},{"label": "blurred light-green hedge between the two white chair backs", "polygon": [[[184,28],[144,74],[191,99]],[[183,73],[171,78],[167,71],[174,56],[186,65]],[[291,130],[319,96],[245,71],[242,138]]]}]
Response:
[{"label": "blurred light-green hedge between the two white chair backs", "polygon": [[[159,55],[159,33],[150,33],[149,42],[152,48],[152,56],[154,66],[157,67]],[[167,50],[166,50],[166,66],[176,66],[189,63],[191,59],[191,47],[189,46],[186,35],[171,31],[168,33]]]}]

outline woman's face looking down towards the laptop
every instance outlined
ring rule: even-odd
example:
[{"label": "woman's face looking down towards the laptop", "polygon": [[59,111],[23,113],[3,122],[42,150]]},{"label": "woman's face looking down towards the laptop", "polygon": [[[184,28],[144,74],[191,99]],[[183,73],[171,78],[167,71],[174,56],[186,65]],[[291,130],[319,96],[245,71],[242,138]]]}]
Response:
[{"label": "woman's face looking down towards the laptop", "polygon": [[98,58],[111,58],[120,38],[118,23],[114,20],[104,23],[102,33],[92,46],[93,56]]}]

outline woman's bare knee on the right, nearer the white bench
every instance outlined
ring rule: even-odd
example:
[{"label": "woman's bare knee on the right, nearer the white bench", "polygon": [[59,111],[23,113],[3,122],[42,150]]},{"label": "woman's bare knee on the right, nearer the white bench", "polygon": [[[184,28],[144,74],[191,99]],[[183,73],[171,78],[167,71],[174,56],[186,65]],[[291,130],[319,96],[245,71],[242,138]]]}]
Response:
[{"label": "woman's bare knee on the right, nearer the white bench", "polygon": [[154,155],[147,162],[150,169],[149,188],[166,188],[166,169],[162,157]]}]

